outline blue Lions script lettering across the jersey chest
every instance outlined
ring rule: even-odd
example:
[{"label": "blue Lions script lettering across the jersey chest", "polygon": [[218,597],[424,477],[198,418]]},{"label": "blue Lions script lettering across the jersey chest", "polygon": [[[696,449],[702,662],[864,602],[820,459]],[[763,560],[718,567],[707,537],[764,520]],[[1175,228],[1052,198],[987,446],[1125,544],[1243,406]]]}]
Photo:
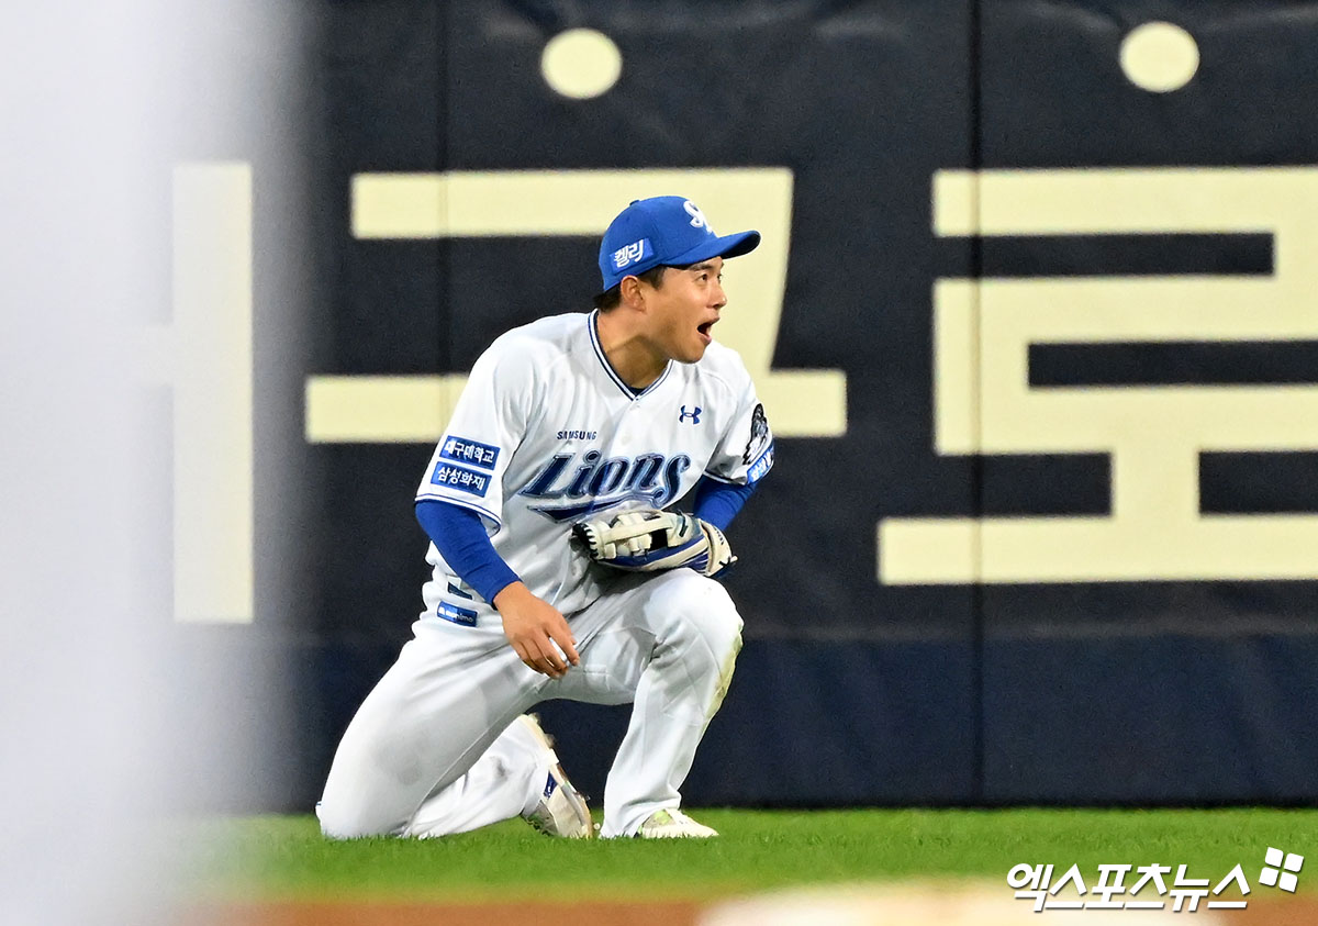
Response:
[{"label": "blue Lions script lettering across the jersey chest", "polygon": [[[691,468],[691,458],[685,454],[605,459],[598,450],[588,450],[576,460],[576,454],[555,454],[518,495],[568,503],[531,505],[531,510],[555,521],[576,520],[625,501],[663,508],[677,497],[681,474]],[[577,499],[584,501],[575,501]]]}]

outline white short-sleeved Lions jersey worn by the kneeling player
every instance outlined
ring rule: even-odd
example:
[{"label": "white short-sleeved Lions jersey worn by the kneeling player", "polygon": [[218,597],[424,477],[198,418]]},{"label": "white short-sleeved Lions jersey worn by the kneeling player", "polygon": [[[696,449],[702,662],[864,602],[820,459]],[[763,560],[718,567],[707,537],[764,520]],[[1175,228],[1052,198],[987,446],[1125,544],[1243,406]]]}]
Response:
[{"label": "white short-sleeved Lions jersey worn by the kneeling player", "polygon": [[[609,365],[597,313],[542,318],[494,340],[472,368],[416,500],[481,514],[498,554],[565,615],[605,575],[569,542],[600,512],[666,508],[700,480],[754,483],[774,438],[741,357],[717,342],[635,392]],[[474,625],[493,612],[431,543],[423,619]]]}]

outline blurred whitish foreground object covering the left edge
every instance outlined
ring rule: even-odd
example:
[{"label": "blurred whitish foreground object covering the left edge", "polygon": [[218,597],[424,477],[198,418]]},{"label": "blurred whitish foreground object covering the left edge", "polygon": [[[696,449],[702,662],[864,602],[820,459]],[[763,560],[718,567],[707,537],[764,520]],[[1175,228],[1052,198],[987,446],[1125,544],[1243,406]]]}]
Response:
[{"label": "blurred whitish foreground object covering the left edge", "polygon": [[57,0],[5,22],[0,922],[174,922],[187,882],[171,814],[208,782],[178,769],[224,724],[174,710],[206,698],[182,691],[173,650],[186,422],[142,332],[174,311],[174,165],[232,158],[233,113],[261,115],[244,96],[260,75],[232,53],[261,36],[250,8]]}]

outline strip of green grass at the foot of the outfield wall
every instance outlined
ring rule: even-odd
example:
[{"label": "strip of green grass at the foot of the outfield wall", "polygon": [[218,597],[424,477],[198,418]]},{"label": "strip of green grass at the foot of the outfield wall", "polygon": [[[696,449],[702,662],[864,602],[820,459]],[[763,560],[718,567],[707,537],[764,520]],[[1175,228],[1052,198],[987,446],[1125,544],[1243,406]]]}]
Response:
[{"label": "strip of green grass at the foot of the outfield wall", "polygon": [[[1238,863],[1257,885],[1269,846],[1310,856],[1318,810],[693,811],[716,840],[555,840],[522,820],[436,840],[320,838],[311,817],[200,824],[198,893],[241,900],[710,900],[771,888],[986,879],[1011,865],[1188,864],[1214,884]],[[1310,864],[1311,861],[1311,864]],[[1306,869],[1318,869],[1310,856]],[[1300,894],[1318,893],[1302,871]],[[1280,896],[1280,893],[1278,893]]]}]

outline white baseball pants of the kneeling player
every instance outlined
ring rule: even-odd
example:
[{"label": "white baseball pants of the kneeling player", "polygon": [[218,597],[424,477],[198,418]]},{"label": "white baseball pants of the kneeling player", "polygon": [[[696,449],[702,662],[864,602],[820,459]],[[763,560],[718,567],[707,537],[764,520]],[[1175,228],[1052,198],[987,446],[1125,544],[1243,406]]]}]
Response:
[{"label": "white baseball pants of the kneeling player", "polygon": [[324,834],[443,836],[529,813],[547,764],[513,720],[555,698],[634,702],[600,835],[634,835],[677,807],[741,649],[735,605],[717,582],[676,569],[619,576],[567,617],[581,665],[561,679],[522,664],[497,612],[482,607],[476,627],[416,621],[339,744],[318,806]]}]

